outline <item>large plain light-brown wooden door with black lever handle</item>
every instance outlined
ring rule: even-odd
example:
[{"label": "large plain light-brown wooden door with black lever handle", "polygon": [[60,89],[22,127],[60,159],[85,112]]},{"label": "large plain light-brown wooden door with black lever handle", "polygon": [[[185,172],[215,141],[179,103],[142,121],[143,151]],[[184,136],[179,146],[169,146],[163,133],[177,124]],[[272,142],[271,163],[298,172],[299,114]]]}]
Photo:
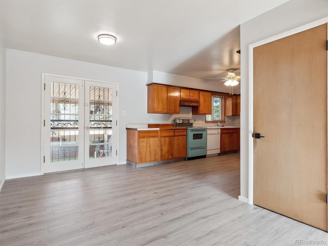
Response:
[{"label": "large plain light-brown wooden door with black lever handle", "polygon": [[254,49],[254,204],[327,231],[327,25]]}]

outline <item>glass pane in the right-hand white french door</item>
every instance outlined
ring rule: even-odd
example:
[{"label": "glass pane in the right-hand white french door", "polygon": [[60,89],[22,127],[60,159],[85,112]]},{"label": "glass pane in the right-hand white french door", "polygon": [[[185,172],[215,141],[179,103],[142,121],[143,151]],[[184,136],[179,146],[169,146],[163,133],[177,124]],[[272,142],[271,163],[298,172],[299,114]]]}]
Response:
[{"label": "glass pane in the right-hand white french door", "polygon": [[112,156],[112,89],[90,87],[89,158]]}]

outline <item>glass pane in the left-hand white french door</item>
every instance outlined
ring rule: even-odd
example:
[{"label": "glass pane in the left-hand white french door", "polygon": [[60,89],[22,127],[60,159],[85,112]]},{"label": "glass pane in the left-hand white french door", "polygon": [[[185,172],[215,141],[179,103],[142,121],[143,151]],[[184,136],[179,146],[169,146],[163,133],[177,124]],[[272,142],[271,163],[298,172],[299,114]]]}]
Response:
[{"label": "glass pane in the left-hand white french door", "polygon": [[50,162],[78,156],[78,85],[51,82]]}]

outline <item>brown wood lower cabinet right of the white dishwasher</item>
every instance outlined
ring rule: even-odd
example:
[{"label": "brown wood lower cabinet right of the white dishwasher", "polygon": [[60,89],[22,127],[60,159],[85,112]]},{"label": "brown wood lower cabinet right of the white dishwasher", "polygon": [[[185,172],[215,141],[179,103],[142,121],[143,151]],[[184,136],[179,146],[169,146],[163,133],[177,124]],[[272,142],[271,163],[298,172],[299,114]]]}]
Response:
[{"label": "brown wood lower cabinet right of the white dishwasher", "polygon": [[239,128],[221,128],[220,152],[240,150]]}]

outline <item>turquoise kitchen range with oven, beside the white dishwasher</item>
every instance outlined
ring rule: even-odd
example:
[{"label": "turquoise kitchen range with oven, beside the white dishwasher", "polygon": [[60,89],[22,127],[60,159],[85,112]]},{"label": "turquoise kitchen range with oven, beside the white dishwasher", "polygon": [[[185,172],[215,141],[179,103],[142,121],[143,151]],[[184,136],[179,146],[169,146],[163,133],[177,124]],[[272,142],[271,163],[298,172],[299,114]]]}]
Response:
[{"label": "turquoise kitchen range with oven, beside the white dishwasher", "polygon": [[175,118],[175,127],[187,127],[187,160],[206,157],[207,128],[193,127],[193,118]]}]

